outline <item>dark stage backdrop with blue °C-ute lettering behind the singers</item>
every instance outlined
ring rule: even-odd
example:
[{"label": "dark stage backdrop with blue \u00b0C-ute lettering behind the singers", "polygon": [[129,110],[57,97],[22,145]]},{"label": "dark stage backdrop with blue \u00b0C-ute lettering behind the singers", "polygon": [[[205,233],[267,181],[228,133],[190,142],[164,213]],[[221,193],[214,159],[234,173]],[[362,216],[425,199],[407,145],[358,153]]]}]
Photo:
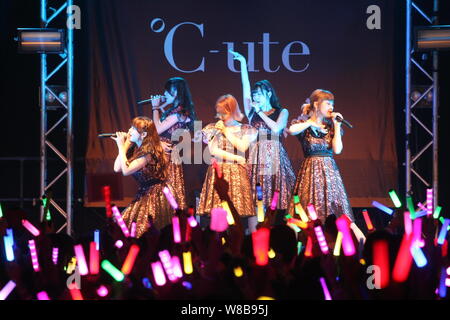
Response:
[{"label": "dark stage backdrop with blue \u00b0C-ute lettering behind the singers", "polygon": [[[371,28],[378,23],[371,5],[380,9],[380,29]],[[114,141],[97,134],[126,131],[137,115],[151,117],[151,106],[136,101],[162,94],[169,77],[188,81],[203,125],[214,121],[220,95],[231,93],[242,101],[239,65],[227,54],[234,48],[247,57],[252,84],[268,79],[274,85],[290,120],[314,89],[332,91],[335,110],[354,125],[345,130],[343,153],[336,156],[352,206],[369,206],[372,200],[391,204],[387,192],[397,188],[393,1],[110,0],[86,6],[86,203],[100,205],[99,188],[106,183],[114,197],[124,197],[123,204],[134,195],[132,178],[112,173]],[[288,137],[285,145],[297,171],[300,143]],[[205,169],[205,164],[185,166],[191,201],[201,190]]]}]

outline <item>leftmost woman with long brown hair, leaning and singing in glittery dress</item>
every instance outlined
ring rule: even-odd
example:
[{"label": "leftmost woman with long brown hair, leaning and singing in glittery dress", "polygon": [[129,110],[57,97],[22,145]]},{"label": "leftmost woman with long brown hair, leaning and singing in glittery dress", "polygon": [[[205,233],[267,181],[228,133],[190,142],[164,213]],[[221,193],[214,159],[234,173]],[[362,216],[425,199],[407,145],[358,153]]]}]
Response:
[{"label": "leftmost woman with long brown hair, leaning and singing in glittery dress", "polygon": [[136,198],[122,212],[128,228],[135,222],[136,237],[140,237],[149,222],[157,228],[170,224],[173,210],[163,193],[165,186],[173,192],[167,183],[169,161],[154,122],[147,117],[136,117],[128,133],[116,132],[112,138],[118,149],[114,171],[132,175],[139,184]]}]

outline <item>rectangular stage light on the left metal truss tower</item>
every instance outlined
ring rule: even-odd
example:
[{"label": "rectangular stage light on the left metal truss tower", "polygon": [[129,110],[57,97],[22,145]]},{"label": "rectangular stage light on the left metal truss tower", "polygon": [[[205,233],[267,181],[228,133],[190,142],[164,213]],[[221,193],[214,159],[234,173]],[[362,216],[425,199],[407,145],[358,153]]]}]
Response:
[{"label": "rectangular stage light on the left metal truss tower", "polygon": [[19,53],[64,53],[66,47],[63,29],[18,28],[15,40]]}]

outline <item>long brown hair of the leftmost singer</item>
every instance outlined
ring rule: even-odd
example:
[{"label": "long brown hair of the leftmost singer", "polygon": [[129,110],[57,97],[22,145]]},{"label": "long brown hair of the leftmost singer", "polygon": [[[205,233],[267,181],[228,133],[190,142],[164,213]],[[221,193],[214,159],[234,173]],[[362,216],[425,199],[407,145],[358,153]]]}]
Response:
[{"label": "long brown hair of the leftmost singer", "polygon": [[139,133],[147,132],[147,135],[139,148],[136,148],[137,145],[134,144],[129,149],[127,153],[128,162],[145,156],[147,159],[146,166],[153,166],[155,178],[166,179],[169,161],[161,145],[155,123],[147,117],[136,117],[133,119],[132,125]]}]

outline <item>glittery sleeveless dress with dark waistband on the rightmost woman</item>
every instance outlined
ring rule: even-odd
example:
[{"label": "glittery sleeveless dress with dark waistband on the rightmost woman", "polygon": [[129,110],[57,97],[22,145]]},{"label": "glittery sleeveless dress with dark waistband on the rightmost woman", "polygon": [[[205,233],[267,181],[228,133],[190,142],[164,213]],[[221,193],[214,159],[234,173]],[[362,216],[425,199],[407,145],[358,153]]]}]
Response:
[{"label": "glittery sleeveless dress with dark waistband on the rightmost woman", "polygon": [[[292,124],[302,120],[294,120]],[[333,128],[328,132],[316,133],[307,128],[297,135],[303,148],[305,158],[298,172],[293,195],[298,195],[305,211],[309,203],[314,204],[317,215],[322,222],[331,214],[336,217],[346,214],[354,221],[352,208],[337,164],[333,158]],[[341,128],[342,130],[342,128]],[[342,133],[343,131],[341,131]],[[289,214],[295,213],[293,198],[289,203]]]}]

